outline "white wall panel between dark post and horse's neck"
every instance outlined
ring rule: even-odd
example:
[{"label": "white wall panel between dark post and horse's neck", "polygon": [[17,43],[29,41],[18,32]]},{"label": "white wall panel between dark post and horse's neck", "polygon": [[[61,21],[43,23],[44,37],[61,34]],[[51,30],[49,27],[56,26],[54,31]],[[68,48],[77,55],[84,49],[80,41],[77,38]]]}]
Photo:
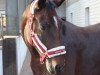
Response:
[{"label": "white wall panel between dark post and horse's neck", "polygon": [[16,39],[16,50],[17,50],[17,71],[18,71],[18,75],[20,75],[22,66],[23,66],[23,62],[25,60],[26,57],[26,53],[27,53],[27,46],[25,45],[22,37],[18,37]]}]

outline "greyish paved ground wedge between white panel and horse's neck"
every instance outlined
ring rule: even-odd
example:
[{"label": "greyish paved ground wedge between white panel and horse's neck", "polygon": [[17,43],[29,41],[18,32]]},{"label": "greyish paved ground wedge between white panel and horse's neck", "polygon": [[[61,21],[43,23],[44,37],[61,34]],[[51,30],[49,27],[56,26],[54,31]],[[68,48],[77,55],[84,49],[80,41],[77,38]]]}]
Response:
[{"label": "greyish paved ground wedge between white panel and horse's neck", "polygon": [[21,69],[20,75],[33,75],[32,70],[30,68],[30,59],[31,59],[30,53],[29,51],[27,51],[27,55],[26,55],[23,67]]}]

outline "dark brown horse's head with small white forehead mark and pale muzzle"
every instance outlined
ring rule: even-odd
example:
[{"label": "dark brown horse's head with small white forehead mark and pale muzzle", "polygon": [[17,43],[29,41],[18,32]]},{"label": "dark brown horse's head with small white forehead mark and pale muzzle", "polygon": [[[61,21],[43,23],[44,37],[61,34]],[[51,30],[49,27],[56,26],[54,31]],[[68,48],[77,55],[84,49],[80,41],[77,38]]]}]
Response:
[{"label": "dark brown horse's head with small white forehead mark and pale muzzle", "polygon": [[30,5],[30,13],[32,15],[32,23],[30,25],[32,25],[31,29],[33,35],[37,34],[38,39],[46,46],[47,51],[45,51],[45,53],[47,53],[48,56],[36,49],[51,74],[62,72],[65,65],[64,54],[66,52],[63,51],[65,48],[61,42],[61,22],[55,11],[55,7],[60,6],[63,1],[64,0],[34,0]]}]

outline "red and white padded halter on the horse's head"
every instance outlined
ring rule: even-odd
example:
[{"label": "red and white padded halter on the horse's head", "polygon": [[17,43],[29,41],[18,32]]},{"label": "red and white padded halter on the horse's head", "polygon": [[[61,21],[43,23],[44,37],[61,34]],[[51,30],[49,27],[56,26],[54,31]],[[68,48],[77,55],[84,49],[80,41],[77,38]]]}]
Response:
[{"label": "red and white padded halter on the horse's head", "polygon": [[34,33],[33,30],[33,18],[34,18],[34,6],[38,0],[32,2],[30,11],[31,15],[29,18],[29,26],[30,26],[30,44],[34,44],[36,49],[42,54],[40,55],[40,62],[43,63],[46,58],[52,58],[55,56],[63,55],[66,53],[65,46],[58,46],[52,49],[49,49],[41,42],[38,35]]}]

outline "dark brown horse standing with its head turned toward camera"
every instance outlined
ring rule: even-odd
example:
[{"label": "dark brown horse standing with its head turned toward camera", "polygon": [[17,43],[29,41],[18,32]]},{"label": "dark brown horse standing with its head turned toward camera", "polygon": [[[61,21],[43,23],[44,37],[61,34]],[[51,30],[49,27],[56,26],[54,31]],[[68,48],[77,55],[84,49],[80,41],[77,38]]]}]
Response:
[{"label": "dark brown horse standing with its head turned toward camera", "polygon": [[[31,53],[30,66],[33,74],[100,75],[100,23],[79,27],[63,21],[55,11],[63,1],[34,0],[23,13],[22,37]],[[49,55],[47,57],[47,54],[39,51],[33,43],[34,33],[47,47],[47,54],[52,51],[50,49],[59,46],[65,47],[63,49],[66,52],[51,58]],[[30,39],[31,35],[33,37]],[[41,56],[42,63],[40,63]]]}]

